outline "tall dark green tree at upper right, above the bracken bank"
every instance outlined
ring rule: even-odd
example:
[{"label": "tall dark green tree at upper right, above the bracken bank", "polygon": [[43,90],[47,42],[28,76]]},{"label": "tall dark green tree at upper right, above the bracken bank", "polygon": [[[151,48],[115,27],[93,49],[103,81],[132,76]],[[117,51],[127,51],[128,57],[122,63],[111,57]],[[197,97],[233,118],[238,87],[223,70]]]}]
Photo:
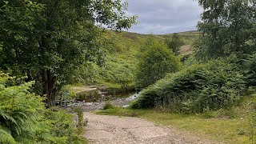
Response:
[{"label": "tall dark green tree at upper right, above the bracken bank", "polygon": [[200,58],[250,54],[256,50],[256,1],[199,0],[204,9],[198,30],[202,38],[196,44]]}]

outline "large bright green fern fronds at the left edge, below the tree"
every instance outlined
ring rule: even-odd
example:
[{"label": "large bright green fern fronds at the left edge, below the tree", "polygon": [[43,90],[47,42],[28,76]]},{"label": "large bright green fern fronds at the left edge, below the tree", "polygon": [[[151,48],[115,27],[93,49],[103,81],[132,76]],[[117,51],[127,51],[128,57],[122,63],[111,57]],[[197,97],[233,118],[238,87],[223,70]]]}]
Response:
[{"label": "large bright green fern fronds at the left edge, below the tree", "polygon": [[[0,73],[0,142],[30,142],[36,136],[44,110],[42,98],[30,94],[34,82],[16,83],[18,79]],[[0,134],[0,135],[2,135]]]}]

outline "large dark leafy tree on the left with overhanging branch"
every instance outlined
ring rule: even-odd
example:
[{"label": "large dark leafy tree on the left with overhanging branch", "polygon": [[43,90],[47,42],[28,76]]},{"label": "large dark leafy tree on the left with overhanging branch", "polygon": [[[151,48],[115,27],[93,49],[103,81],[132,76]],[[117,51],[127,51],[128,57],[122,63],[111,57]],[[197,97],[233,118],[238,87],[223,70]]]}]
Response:
[{"label": "large dark leafy tree on the left with overhanging branch", "polygon": [[121,0],[22,0],[0,2],[0,68],[35,80],[38,94],[55,94],[84,62],[98,62],[101,30],[130,28],[136,16],[126,17]]}]

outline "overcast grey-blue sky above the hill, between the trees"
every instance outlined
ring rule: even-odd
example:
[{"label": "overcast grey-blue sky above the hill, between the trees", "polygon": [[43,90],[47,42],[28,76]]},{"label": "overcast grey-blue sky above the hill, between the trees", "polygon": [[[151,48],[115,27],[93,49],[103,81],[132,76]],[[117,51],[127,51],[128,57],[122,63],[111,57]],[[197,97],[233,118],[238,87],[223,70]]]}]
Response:
[{"label": "overcast grey-blue sky above the hill, between the trees", "polygon": [[129,14],[138,14],[138,25],[130,32],[170,34],[197,30],[202,9],[195,0],[127,0]]}]

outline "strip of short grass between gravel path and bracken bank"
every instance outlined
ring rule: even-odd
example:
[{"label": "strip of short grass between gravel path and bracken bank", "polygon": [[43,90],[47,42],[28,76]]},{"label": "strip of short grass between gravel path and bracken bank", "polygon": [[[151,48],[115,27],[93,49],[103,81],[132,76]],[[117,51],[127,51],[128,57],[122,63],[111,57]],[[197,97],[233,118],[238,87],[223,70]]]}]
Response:
[{"label": "strip of short grass between gravel path and bracken bank", "polygon": [[[246,96],[239,106],[231,110],[220,110],[207,114],[173,114],[159,110],[132,110],[113,108],[95,111],[96,114],[146,118],[158,125],[172,126],[189,131],[199,137],[224,143],[250,143],[248,103],[255,102],[256,96]],[[235,114],[234,114],[235,113]],[[229,117],[231,116],[231,117]]]}]

